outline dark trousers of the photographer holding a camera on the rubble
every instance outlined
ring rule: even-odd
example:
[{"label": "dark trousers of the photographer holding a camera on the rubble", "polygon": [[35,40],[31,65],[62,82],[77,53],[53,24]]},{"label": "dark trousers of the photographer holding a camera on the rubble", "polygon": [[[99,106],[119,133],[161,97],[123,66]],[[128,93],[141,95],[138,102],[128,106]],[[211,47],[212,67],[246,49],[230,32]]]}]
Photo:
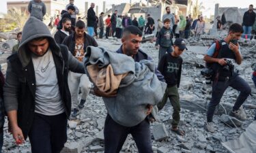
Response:
[{"label": "dark trousers of the photographer holding a camera on the rubble", "polygon": [[218,81],[212,83],[212,99],[208,105],[207,111],[207,122],[212,122],[212,118],[214,116],[214,111],[218,103],[221,101],[221,97],[227,87],[231,86],[232,88],[240,91],[238,99],[236,99],[236,103],[233,106],[233,111],[238,110],[244,101],[247,99],[248,95],[251,93],[251,87],[248,85],[246,81],[244,81],[240,76],[234,76],[229,78],[226,81]]}]

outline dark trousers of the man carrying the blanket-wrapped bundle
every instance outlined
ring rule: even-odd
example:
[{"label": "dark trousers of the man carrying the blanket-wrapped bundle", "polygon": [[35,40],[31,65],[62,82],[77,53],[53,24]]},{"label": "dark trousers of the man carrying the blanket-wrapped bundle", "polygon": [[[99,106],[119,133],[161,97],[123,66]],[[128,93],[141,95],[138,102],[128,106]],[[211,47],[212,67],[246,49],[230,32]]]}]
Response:
[{"label": "dark trousers of the man carrying the blanket-wrapped bundle", "polygon": [[132,135],[139,153],[153,153],[148,120],[145,119],[136,126],[126,127],[117,124],[109,114],[106,116],[104,125],[104,153],[119,153],[129,133]]}]

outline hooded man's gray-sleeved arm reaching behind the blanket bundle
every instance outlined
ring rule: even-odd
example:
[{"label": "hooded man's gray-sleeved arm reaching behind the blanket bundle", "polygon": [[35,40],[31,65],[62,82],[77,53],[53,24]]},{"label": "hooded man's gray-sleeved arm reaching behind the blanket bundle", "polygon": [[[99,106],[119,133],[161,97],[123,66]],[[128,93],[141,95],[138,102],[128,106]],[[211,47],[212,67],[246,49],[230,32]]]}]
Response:
[{"label": "hooded man's gray-sleeved arm reaching behind the blanket bundle", "polygon": [[70,71],[74,73],[83,73],[85,74],[85,69],[83,67],[83,63],[78,61],[70,51],[68,51],[68,65],[70,67]]}]

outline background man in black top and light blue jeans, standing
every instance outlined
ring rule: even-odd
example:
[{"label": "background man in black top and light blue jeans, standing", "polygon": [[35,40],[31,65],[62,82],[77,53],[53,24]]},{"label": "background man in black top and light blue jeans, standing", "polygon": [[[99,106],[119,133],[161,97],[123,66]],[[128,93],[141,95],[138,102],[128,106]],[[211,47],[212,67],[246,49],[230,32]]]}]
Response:
[{"label": "background man in black top and light blue jeans, standing", "polygon": [[96,23],[96,14],[94,12],[94,3],[91,3],[91,7],[87,11],[87,31],[88,35],[94,37],[94,26]]}]

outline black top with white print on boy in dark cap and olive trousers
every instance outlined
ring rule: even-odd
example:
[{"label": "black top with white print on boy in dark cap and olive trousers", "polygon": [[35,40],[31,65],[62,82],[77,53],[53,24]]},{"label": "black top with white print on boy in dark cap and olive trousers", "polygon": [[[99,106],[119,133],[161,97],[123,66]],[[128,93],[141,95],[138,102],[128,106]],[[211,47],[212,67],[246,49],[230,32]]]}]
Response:
[{"label": "black top with white print on boy in dark cap and olive trousers", "polygon": [[180,86],[180,76],[182,74],[182,57],[174,57],[171,54],[165,54],[160,59],[158,71],[162,73],[167,82],[167,86]]}]

